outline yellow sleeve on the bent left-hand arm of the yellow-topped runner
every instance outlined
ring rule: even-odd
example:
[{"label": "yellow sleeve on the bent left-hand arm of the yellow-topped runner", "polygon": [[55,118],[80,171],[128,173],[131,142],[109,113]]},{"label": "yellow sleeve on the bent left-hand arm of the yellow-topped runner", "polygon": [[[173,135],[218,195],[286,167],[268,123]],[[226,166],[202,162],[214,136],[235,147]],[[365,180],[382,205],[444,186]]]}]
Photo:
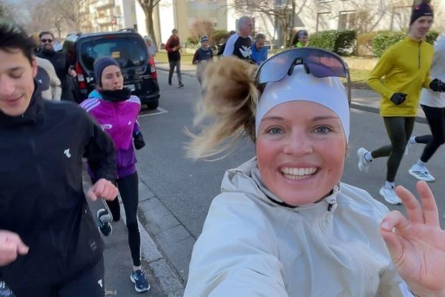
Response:
[{"label": "yellow sleeve on the bent left-hand arm of the yellow-topped runner", "polygon": [[394,54],[393,54],[393,48],[390,47],[383,53],[382,57],[380,57],[377,65],[375,65],[374,69],[371,71],[371,74],[369,75],[368,85],[373,88],[377,93],[382,95],[386,98],[391,98],[391,96],[397,92],[397,90],[390,90],[383,86],[382,77],[385,77],[385,75],[394,67]]}]

